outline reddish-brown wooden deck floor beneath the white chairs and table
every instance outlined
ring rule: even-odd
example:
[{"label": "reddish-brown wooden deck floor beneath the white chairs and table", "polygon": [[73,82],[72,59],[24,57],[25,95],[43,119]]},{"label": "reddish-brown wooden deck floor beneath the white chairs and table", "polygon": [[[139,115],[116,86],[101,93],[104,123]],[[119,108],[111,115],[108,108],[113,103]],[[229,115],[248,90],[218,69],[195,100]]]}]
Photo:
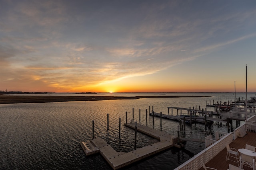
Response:
[{"label": "reddish-brown wooden deck floor beneath the white chairs and table", "polygon": [[[229,146],[230,148],[235,148],[238,150],[240,148],[245,148],[246,144],[256,146],[256,133],[247,132],[247,135],[245,135],[242,138],[238,137],[236,140],[230,143]],[[212,160],[210,160],[210,162],[206,163],[206,166],[216,168],[218,170],[227,170],[229,164],[238,166],[236,162],[232,162],[231,160],[227,160],[227,162],[225,162],[226,155],[227,150],[225,148],[219,154],[217,154]],[[200,168],[199,170],[204,170],[204,168]],[[251,168],[244,166],[244,170],[251,170]]]}]

